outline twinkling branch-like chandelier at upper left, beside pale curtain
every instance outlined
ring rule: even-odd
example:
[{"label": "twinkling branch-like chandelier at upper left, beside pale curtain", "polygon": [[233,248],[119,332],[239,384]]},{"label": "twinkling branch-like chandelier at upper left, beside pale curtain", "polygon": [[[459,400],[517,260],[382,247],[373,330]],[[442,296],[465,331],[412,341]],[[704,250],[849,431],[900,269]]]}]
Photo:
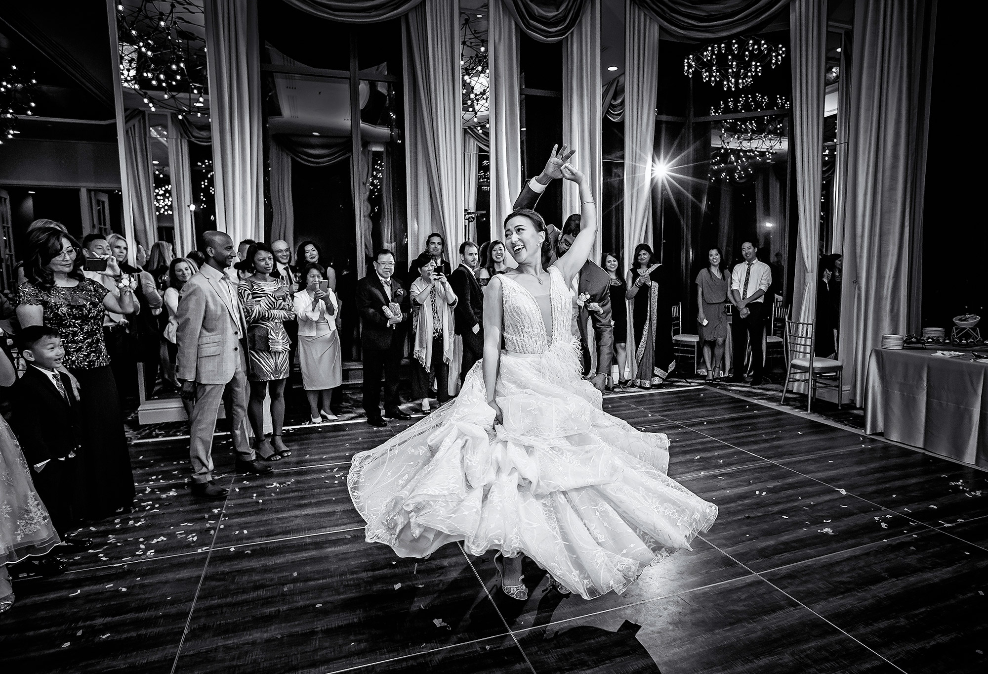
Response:
[{"label": "twinkling branch-like chandelier at upper left, beside pale curtain", "polygon": [[190,30],[203,25],[203,15],[190,0],[170,3],[167,12],[148,0],[117,5],[121,82],[151,112],[160,107],[180,119],[208,114],[206,44]]}]

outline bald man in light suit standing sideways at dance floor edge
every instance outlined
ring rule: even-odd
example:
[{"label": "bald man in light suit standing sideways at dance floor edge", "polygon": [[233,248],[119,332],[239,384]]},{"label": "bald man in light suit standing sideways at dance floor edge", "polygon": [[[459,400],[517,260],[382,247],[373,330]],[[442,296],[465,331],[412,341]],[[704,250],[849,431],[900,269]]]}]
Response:
[{"label": "bald man in light suit standing sideways at dance floor edge", "polygon": [[192,493],[224,498],[227,489],[212,481],[212,434],[220,401],[231,424],[236,469],[261,474],[274,469],[257,460],[247,435],[247,322],[237,289],[225,274],[237,250],[221,231],[204,232],[203,241],[206,264],[179,299],[175,369],[182,397],[196,400],[189,420]]}]

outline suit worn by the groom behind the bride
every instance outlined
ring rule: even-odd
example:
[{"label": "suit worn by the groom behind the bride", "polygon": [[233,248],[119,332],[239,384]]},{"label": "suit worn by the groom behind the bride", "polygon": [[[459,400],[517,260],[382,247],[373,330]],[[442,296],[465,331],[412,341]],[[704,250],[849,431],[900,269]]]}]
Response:
[{"label": "suit worn by the groom behind the bride", "polygon": [[[525,182],[522,194],[515,200],[514,208],[535,209],[535,203],[540,195],[529,187],[529,182]],[[548,226],[549,264],[553,264],[558,257],[558,243],[562,232],[554,225]],[[615,326],[611,319],[611,275],[601,269],[600,266],[587,260],[580,269],[580,295],[587,294],[590,298],[579,308],[577,319],[580,329],[580,351],[583,354],[583,374],[590,374],[590,347],[587,339],[587,318],[589,317],[594,325],[594,334],[597,336],[597,374],[611,375],[611,364],[614,362],[614,341]],[[601,306],[600,311],[588,311],[586,304],[597,302]]]}]

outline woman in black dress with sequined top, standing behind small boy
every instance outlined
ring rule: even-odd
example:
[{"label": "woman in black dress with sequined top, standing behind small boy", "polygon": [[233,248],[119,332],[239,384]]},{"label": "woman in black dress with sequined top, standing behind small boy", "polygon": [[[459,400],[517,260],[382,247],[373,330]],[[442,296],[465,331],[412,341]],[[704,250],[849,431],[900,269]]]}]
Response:
[{"label": "woman in black dress with sequined top, standing behind small boy", "polygon": [[[61,229],[41,227],[28,237],[25,271],[18,289],[21,325],[48,325],[65,345],[64,364],[78,380],[82,404],[85,491],[83,516],[101,519],[133,504],[133,474],[124,435],[117,382],[103,338],[103,312],[131,313],[137,306],[134,278],[122,278],[120,296],[82,274],[79,243]],[[116,258],[107,270],[121,277]]]}]

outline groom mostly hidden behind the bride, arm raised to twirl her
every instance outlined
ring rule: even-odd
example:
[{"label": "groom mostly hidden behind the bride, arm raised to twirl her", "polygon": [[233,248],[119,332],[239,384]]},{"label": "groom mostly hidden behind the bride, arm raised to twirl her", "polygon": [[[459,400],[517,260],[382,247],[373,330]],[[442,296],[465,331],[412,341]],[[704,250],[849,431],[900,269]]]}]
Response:
[{"label": "groom mostly hidden behind the bride, arm raised to twirl her", "polygon": [[[566,145],[562,146],[558,152],[556,146],[552,147],[552,153],[545,168],[535,178],[529,181],[522,194],[515,201],[514,209],[535,209],[538,198],[545,191],[545,188],[553,180],[562,177],[562,166],[571,156],[574,150],[567,150]],[[547,225],[550,242],[549,264],[562,256],[577,234],[580,233],[580,215],[573,213],[566,218],[562,231],[552,224]],[[611,320],[611,275],[601,269],[594,262],[587,260],[580,272],[573,279],[574,293],[573,307],[573,336],[580,338],[580,351],[583,353],[583,374],[590,373],[590,348],[587,339],[587,319],[593,323],[594,333],[597,336],[597,372],[588,377],[597,390],[604,392],[608,376],[611,374],[611,364],[614,360],[614,321]]]}]

